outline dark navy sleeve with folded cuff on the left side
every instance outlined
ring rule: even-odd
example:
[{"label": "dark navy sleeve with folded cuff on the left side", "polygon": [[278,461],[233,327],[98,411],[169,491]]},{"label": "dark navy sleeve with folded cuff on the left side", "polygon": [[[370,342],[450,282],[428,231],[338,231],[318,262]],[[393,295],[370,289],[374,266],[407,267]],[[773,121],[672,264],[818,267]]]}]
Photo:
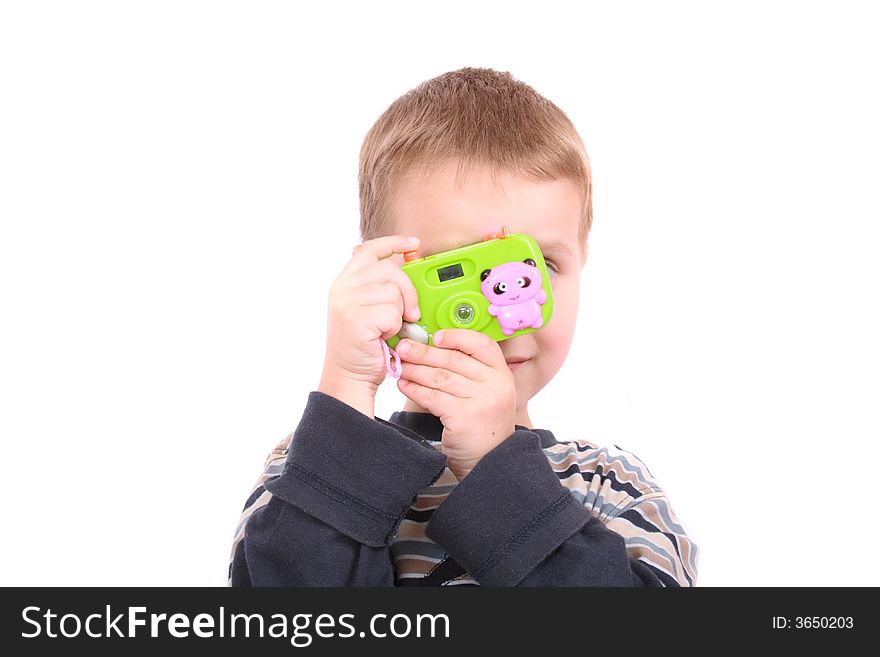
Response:
[{"label": "dark navy sleeve with folded cuff on the left side", "polygon": [[318,391],[283,465],[282,446],[245,505],[229,584],[393,586],[388,545],[446,457]]}]

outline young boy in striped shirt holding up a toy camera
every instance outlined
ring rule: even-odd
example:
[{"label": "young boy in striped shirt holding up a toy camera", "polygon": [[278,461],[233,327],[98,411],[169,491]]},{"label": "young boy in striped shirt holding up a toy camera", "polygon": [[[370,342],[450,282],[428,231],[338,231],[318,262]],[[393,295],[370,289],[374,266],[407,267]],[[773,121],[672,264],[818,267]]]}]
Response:
[{"label": "young boy in striped shirt holding up a toy camera", "polygon": [[[574,335],[591,187],[574,126],[508,73],[441,75],[379,118],[361,150],[364,242],[330,289],[320,385],[245,504],[232,586],[695,583],[697,547],[647,467],[529,417]],[[401,341],[407,401],[374,417],[381,341],[419,317],[402,254],[503,225],[537,240],[552,320],[501,342],[467,329]]]}]

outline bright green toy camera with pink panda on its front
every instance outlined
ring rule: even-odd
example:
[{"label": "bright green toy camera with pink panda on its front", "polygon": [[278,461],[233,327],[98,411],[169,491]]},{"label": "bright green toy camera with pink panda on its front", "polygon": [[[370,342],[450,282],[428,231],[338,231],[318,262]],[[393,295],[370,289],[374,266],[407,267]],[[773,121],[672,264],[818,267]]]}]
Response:
[{"label": "bright green toy camera with pink panda on its front", "polygon": [[386,340],[432,344],[441,329],[480,331],[495,341],[535,331],[553,314],[553,290],[538,243],[530,235],[502,233],[484,241],[419,258],[405,254],[401,269],[419,297],[418,322],[404,322]]}]

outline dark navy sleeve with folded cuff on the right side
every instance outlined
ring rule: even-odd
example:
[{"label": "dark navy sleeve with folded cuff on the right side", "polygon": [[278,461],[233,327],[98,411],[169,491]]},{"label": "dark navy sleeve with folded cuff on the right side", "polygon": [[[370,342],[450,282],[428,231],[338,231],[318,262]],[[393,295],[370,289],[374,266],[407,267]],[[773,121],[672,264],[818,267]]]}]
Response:
[{"label": "dark navy sleeve with folded cuff on the right side", "polygon": [[661,491],[603,523],[521,429],[453,489],[425,533],[483,586],[677,586],[696,576],[696,546]]}]

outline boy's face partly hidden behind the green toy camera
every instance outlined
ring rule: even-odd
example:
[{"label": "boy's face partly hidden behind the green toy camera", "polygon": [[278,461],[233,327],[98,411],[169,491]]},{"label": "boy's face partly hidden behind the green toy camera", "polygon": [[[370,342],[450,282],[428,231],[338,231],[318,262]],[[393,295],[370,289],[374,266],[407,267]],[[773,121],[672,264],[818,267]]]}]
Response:
[{"label": "boy's face partly hidden behind the green toy camera", "polygon": [[[535,238],[553,286],[553,317],[542,328],[499,343],[516,381],[516,423],[532,427],[527,404],[553,378],[571,346],[586,250],[578,241],[581,195],[568,180],[534,182],[508,175],[493,184],[488,169],[476,169],[456,184],[453,164],[405,178],[392,205],[396,233],[421,240],[422,257],[481,241],[507,225]],[[403,264],[403,256],[393,260]],[[553,269],[557,271],[554,272]],[[412,400],[405,411],[427,412]]]}]

